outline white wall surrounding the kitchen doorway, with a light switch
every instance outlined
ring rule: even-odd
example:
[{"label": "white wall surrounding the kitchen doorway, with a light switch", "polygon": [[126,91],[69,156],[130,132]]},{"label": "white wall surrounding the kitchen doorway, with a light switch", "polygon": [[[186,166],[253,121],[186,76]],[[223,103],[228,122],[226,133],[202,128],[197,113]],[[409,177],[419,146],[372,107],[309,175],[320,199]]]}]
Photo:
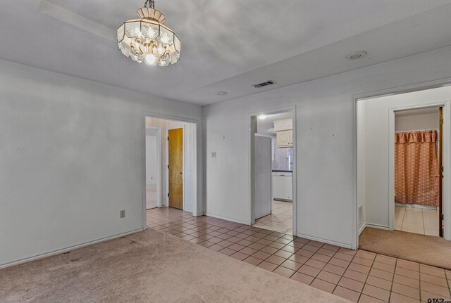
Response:
[{"label": "white wall surrounding the kitchen doorway, with a light switch", "polygon": [[297,232],[355,248],[352,96],[449,77],[450,47],[204,107],[207,214],[249,223],[249,114],[296,105]]}]

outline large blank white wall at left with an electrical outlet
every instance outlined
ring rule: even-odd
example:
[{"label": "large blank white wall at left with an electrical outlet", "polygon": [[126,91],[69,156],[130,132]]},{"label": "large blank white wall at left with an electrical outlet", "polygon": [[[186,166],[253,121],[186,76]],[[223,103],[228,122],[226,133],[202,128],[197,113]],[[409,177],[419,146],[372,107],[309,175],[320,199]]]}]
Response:
[{"label": "large blank white wall at left with an electrical outlet", "polygon": [[140,230],[144,112],[202,120],[197,105],[4,60],[0,101],[0,266]]}]

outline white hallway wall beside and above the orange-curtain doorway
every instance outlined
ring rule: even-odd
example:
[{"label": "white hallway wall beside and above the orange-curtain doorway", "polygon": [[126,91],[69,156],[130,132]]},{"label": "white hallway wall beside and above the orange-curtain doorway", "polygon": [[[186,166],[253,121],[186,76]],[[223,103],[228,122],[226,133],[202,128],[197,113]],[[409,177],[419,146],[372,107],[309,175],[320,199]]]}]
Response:
[{"label": "white hallway wall beside and above the orange-curtain doorway", "polygon": [[[389,128],[389,108],[410,105],[424,105],[426,103],[436,103],[439,101],[448,101],[451,99],[451,86],[438,89],[430,89],[426,91],[416,91],[409,94],[400,94],[395,96],[385,96],[381,98],[372,98],[358,102],[358,107],[364,105],[364,131],[365,141],[365,207],[366,207],[366,224],[389,227],[389,169],[388,169],[388,133]],[[361,112],[359,110],[359,112]],[[438,116],[435,125],[423,124],[413,129],[421,129],[423,127],[438,127]],[[417,115],[420,116],[420,115]],[[406,116],[409,117],[409,116]],[[410,116],[412,117],[412,116]],[[404,118],[404,117],[402,117]],[[421,122],[421,119],[416,119]],[[424,123],[427,120],[422,120]],[[431,121],[432,122],[432,121]],[[407,127],[407,125],[406,125]],[[412,127],[410,125],[409,127]]]}]

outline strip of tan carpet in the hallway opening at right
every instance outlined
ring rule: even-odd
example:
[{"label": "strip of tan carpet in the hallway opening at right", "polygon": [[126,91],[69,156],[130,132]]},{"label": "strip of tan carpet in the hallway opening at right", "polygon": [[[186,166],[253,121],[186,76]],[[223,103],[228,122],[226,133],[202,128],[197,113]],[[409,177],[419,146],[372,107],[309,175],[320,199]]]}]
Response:
[{"label": "strip of tan carpet in the hallway opening at right", "polygon": [[440,237],[366,227],[359,236],[359,249],[451,269],[451,241]]}]

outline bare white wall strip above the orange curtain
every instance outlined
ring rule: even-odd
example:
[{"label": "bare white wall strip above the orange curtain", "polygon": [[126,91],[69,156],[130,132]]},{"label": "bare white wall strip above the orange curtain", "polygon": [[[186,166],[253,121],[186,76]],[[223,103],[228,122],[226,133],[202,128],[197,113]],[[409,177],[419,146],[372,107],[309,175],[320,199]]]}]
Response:
[{"label": "bare white wall strip above the orange curtain", "polygon": [[440,114],[436,112],[395,117],[395,131],[416,131],[419,129],[438,129]]}]

